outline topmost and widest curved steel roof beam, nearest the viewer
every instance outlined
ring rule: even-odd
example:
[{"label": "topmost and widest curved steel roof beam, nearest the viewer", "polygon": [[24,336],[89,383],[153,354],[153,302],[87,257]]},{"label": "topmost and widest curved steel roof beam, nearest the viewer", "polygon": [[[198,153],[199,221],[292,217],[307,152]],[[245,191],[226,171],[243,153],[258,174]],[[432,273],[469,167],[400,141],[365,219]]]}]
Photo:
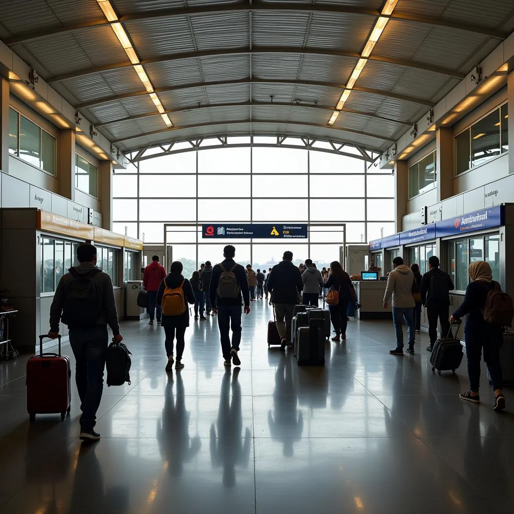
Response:
[{"label": "topmost and widest curved steel roof beam, nearest the viewer", "polygon": [[[135,12],[127,13],[120,16],[121,22],[131,22],[139,20],[152,20],[159,18],[173,18],[177,16],[196,16],[196,15],[208,15],[208,14],[223,14],[223,13],[237,13],[237,12],[248,12],[248,11],[282,11],[282,12],[305,12],[305,13],[327,13],[327,14],[360,14],[368,16],[379,16],[380,11],[376,9],[366,9],[361,7],[352,7],[346,5],[308,5],[294,2],[277,2],[277,3],[264,3],[255,1],[250,3],[248,0],[242,0],[240,2],[234,2],[229,4],[221,5],[210,5],[210,6],[195,6],[187,8],[171,8],[171,9],[159,9],[155,11],[147,12]],[[480,25],[469,25],[463,23],[457,23],[447,20],[441,20],[436,18],[430,18],[426,16],[416,16],[410,13],[398,12],[395,10],[391,16],[392,20],[399,21],[410,21],[415,23],[421,23],[426,25],[435,25],[441,27],[448,27],[458,30],[465,30],[467,32],[474,32],[477,34],[483,34],[489,38],[504,40],[509,34],[503,33],[498,30],[491,29],[490,27],[482,27]],[[98,20],[89,20],[81,23],[74,23],[70,25],[52,27],[51,29],[35,30],[26,32],[24,34],[18,34],[11,38],[6,38],[5,43],[7,45],[16,45],[24,43],[38,38],[45,38],[49,35],[72,32],[75,30],[86,30],[88,28],[99,27],[108,25],[109,22],[105,17],[99,18]]]}]

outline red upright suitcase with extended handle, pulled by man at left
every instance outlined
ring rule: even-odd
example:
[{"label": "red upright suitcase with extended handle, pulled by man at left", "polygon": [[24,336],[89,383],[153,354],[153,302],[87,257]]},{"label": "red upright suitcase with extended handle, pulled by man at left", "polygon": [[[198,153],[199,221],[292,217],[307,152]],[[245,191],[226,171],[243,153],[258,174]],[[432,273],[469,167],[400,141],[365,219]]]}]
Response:
[{"label": "red upright suitcase with extended handle, pulled by man at left", "polygon": [[34,420],[36,414],[61,414],[66,418],[71,409],[71,368],[69,357],[59,353],[43,353],[43,339],[39,336],[39,355],[27,362],[27,412]]}]

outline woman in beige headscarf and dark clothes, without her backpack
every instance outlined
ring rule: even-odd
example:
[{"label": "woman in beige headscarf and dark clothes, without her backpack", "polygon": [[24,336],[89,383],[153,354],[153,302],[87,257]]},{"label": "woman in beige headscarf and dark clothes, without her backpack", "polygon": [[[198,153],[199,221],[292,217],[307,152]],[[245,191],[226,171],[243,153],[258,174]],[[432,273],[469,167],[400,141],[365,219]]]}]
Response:
[{"label": "woman in beige headscarf and dark clothes, without her backpack", "polygon": [[500,284],[492,280],[492,270],[489,263],[484,261],[472,262],[468,267],[471,282],[466,288],[466,296],[461,306],[453,313],[450,322],[462,318],[466,314],[464,336],[466,355],[468,358],[469,391],[461,393],[461,398],[472,403],[480,403],[480,361],[484,348],[484,361],[491,377],[494,389],[494,410],[505,409],[503,396],[502,366],[500,364],[500,347],[503,341],[503,328],[486,323],[482,315],[487,295]]}]

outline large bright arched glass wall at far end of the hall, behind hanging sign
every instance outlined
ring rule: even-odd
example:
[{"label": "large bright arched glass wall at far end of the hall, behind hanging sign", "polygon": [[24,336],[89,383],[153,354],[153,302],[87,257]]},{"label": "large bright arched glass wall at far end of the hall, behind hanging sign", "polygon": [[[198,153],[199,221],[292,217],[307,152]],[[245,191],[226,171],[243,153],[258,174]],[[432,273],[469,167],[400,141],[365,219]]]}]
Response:
[{"label": "large bright arched glass wall at far end of the hall, behind hanging sign", "polygon": [[[163,243],[164,224],[176,224],[173,259],[189,274],[198,262],[218,262],[223,242],[208,243],[187,226],[204,223],[313,224],[307,241],[233,241],[236,260],[267,268],[293,246],[295,260],[310,256],[325,266],[346,243],[394,231],[394,177],[369,162],[316,150],[224,148],[176,153],[140,161],[116,172],[114,230],[145,243]],[[184,224],[180,226],[180,224]],[[314,227],[316,225],[316,227]],[[196,244],[198,242],[198,245]],[[228,244],[228,243],[227,243]],[[218,255],[219,254],[219,255]],[[191,268],[191,270],[189,270]]]}]

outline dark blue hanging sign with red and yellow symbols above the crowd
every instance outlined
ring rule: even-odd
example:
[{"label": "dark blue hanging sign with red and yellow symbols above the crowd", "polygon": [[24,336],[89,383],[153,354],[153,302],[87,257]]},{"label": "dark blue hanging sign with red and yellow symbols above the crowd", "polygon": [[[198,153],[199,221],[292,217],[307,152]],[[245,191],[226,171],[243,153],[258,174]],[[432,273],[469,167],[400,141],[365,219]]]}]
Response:
[{"label": "dark blue hanging sign with red and yellow symbols above the crowd", "polygon": [[203,225],[202,239],[305,239],[307,225],[211,224]]}]

